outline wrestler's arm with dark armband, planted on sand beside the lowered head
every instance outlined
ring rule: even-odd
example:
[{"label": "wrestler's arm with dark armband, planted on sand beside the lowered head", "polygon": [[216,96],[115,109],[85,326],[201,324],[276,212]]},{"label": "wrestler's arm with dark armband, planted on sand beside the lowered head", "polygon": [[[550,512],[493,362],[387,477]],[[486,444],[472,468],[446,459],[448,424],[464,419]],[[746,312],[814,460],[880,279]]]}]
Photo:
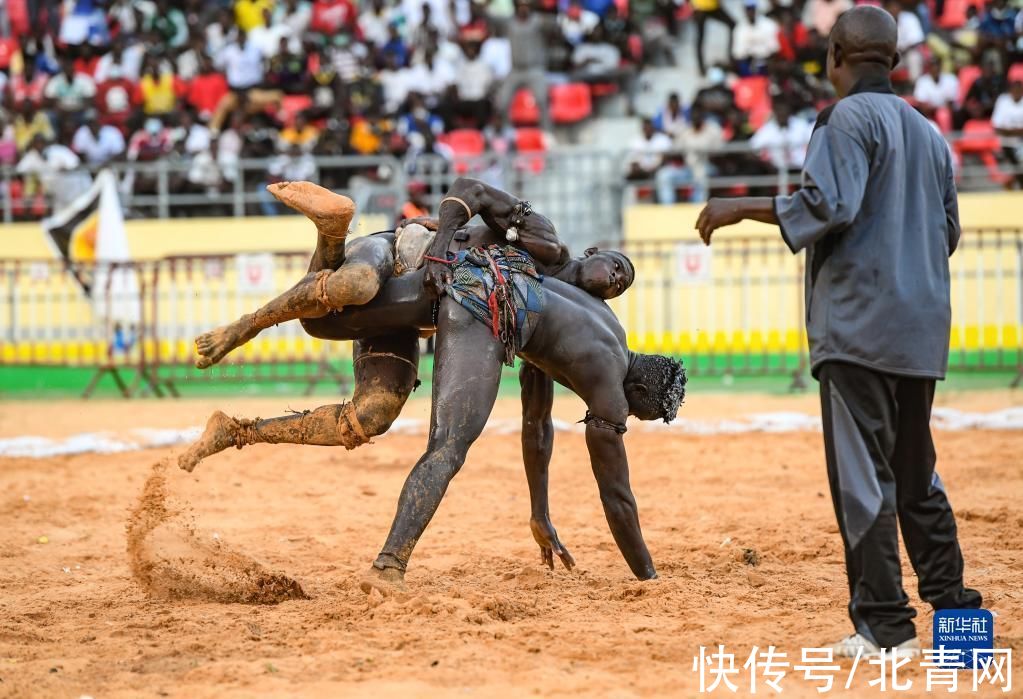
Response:
[{"label": "wrestler's arm with dark armband, planted on sand beside the lowered head", "polygon": [[632,573],[640,580],[649,580],[657,577],[657,571],[639,528],[639,512],[629,483],[625,442],[621,434],[607,426],[607,423],[625,424],[628,400],[621,381],[602,381],[599,375],[594,375],[592,380],[591,385],[595,388],[586,397],[586,405],[591,416],[603,418],[603,421],[586,424],[586,448],[601,491],[604,516]]}]

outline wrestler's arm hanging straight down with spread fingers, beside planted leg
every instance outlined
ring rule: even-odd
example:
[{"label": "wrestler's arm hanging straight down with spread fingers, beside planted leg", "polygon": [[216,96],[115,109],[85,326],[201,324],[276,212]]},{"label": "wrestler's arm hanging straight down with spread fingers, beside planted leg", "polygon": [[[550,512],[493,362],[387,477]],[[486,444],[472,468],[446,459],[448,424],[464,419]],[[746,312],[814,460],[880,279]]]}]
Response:
[{"label": "wrestler's arm hanging straight down with spread fingers, beside planted leg", "polygon": [[550,523],[547,501],[547,472],[554,447],[554,425],[550,409],[554,402],[554,382],[542,370],[524,361],[519,370],[522,387],[522,460],[529,484],[531,515],[529,528],[540,547],[540,560],[554,568],[554,554],[569,570],[575,560],[558,538]]}]

